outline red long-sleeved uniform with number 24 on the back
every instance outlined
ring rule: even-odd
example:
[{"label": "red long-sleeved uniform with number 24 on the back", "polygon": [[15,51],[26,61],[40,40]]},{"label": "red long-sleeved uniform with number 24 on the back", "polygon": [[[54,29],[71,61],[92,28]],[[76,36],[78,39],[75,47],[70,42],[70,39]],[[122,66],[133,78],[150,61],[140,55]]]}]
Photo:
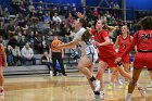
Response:
[{"label": "red long-sleeved uniform with number 24 on the back", "polygon": [[135,55],[134,67],[152,68],[152,30],[139,30],[135,34],[132,43],[125,53],[124,58],[137,45],[138,53]]}]

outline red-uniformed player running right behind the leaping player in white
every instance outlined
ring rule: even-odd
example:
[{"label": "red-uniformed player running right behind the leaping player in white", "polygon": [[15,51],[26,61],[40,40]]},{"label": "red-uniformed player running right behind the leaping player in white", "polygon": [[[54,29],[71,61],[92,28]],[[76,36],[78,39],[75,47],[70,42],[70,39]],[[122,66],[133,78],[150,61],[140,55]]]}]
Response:
[{"label": "red-uniformed player running right behind the leaping player in white", "polygon": [[127,72],[125,72],[122,67],[117,67],[117,64],[115,63],[116,52],[109,37],[109,30],[106,28],[105,22],[102,20],[99,20],[96,24],[96,29],[90,29],[90,30],[91,30],[91,34],[94,36],[96,45],[99,51],[99,66],[98,66],[98,73],[96,77],[101,83],[100,94],[101,94],[101,99],[103,99],[104,98],[103,73],[105,68],[107,67],[116,68],[121,73],[122,76],[128,79],[131,79],[131,76]]}]

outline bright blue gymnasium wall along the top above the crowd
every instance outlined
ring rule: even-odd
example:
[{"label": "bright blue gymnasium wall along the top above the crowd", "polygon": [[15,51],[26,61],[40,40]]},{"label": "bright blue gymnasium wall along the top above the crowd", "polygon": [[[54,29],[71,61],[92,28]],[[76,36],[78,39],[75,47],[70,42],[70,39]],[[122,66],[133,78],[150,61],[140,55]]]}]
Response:
[{"label": "bright blue gymnasium wall along the top above the crowd", "polygon": [[[34,2],[39,2],[40,0],[33,0]],[[81,0],[41,0],[42,2],[51,2],[51,3],[62,3],[62,4],[73,4],[75,3],[77,8],[81,5]],[[107,0],[109,2],[118,2],[122,5],[122,0]],[[100,0],[86,0],[87,5],[98,5]],[[2,8],[9,5],[10,0],[0,0],[0,4]],[[137,10],[152,10],[152,1],[151,0],[126,0],[127,9],[137,9]],[[105,2],[101,4],[101,7],[107,7]]]}]

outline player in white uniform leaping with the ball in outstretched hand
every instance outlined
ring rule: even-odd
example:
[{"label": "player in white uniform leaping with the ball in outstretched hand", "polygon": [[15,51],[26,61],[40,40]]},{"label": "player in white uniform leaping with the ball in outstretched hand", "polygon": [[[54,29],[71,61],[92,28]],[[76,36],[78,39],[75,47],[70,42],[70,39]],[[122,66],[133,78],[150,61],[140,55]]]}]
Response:
[{"label": "player in white uniform leaping with the ball in outstretched hand", "polygon": [[76,45],[80,45],[81,58],[78,62],[77,68],[87,77],[89,85],[96,94],[96,99],[99,99],[100,81],[93,76],[93,64],[98,59],[98,52],[91,40],[91,34],[84,28],[85,24],[86,21],[84,18],[78,18],[75,22],[76,35],[74,40],[65,45],[60,45],[56,48],[74,48]]}]

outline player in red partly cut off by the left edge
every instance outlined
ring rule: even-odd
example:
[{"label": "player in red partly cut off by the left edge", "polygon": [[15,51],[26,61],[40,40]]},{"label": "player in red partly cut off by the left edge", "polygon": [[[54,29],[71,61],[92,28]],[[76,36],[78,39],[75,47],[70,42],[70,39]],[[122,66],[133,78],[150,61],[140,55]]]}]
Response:
[{"label": "player in red partly cut off by the left edge", "polygon": [[3,47],[2,43],[0,43],[0,96],[4,96],[2,59],[4,60],[4,66],[8,66],[7,55],[5,55],[5,52],[4,52],[4,47]]}]

